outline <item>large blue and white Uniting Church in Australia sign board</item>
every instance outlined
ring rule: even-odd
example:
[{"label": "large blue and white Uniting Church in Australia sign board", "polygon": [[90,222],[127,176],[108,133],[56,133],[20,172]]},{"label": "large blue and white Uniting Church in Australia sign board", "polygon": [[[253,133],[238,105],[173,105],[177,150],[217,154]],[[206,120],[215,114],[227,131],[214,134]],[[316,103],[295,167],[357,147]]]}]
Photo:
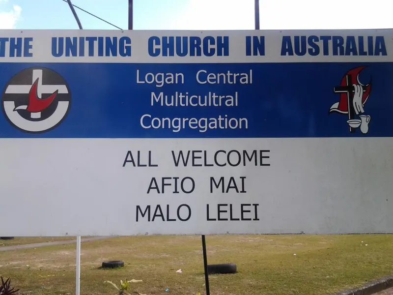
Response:
[{"label": "large blue and white Uniting Church in Australia sign board", "polygon": [[2,30],[0,234],[393,232],[393,30]]}]

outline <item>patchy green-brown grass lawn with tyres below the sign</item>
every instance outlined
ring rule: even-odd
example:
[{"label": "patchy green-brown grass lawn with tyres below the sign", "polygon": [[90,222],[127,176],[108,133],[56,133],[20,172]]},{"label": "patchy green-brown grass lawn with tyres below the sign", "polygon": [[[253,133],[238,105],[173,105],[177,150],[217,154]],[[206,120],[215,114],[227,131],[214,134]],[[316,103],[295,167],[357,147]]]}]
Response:
[{"label": "patchy green-brown grass lawn with tyres below the sign", "polygon": [[[238,266],[209,276],[212,295],[326,295],[393,274],[393,235],[206,236],[206,244],[209,264]],[[0,252],[0,274],[21,294],[75,294],[75,254],[75,244]],[[124,268],[100,269],[118,259]],[[143,280],[132,284],[142,294],[205,294],[200,236],[84,242],[81,263],[84,295],[115,295],[103,282],[126,278]]]}]

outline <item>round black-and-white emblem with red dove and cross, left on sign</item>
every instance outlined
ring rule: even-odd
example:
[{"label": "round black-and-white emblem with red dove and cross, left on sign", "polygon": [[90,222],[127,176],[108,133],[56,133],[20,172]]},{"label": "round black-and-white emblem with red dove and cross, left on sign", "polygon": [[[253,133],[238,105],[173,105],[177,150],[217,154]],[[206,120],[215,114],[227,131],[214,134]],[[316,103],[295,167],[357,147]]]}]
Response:
[{"label": "round black-and-white emblem with red dove and cross, left on sign", "polygon": [[41,133],[54,129],[67,116],[71,93],[67,82],[55,71],[31,67],[8,81],[1,104],[5,118],[13,126]]}]

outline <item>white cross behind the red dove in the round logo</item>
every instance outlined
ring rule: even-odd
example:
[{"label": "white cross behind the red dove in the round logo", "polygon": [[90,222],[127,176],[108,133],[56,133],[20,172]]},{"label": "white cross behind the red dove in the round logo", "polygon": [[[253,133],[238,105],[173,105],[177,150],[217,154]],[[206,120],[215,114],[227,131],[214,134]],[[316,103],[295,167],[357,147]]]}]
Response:
[{"label": "white cross behind the red dove in the round logo", "polygon": [[[52,94],[56,90],[58,93],[68,93],[67,87],[65,85],[43,85],[42,84],[42,70],[33,70],[33,79],[31,85],[9,85],[5,90],[7,94],[28,94],[31,86],[37,80],[37,96],[41,98],[43,93],[45,94]],[[30,118],[41,118],[41,112],[38,113],[31,113]]]}]

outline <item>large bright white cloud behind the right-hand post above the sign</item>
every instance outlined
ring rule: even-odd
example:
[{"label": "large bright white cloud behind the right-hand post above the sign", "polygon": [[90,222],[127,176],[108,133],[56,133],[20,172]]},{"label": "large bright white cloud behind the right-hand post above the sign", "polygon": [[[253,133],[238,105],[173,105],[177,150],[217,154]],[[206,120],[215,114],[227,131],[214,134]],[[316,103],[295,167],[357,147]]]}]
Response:
[{"label": "large bright white cloud behind the right-hand post above the sign", "polygon": [[[260,0],[260,29],[393,28],[392,0]],[[254,0],[187,0],[160,29],[254,29]]]}]

